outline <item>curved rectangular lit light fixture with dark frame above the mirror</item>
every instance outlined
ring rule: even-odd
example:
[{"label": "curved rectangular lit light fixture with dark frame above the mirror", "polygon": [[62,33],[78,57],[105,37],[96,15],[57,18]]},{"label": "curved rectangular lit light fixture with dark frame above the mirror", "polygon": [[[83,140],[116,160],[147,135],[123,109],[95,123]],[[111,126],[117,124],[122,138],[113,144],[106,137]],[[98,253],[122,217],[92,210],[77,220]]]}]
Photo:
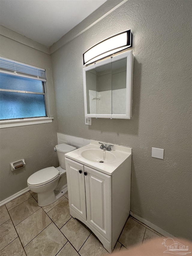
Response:
[{"label": "curved rectangular lit light fixture with dark frame above the mirror", "polygon": [[91,64],[114,53],[130,48],[131,46],[132,34],[130,29],[107,38],[106,40],[91,47],[83,54],[83,65]]}]

